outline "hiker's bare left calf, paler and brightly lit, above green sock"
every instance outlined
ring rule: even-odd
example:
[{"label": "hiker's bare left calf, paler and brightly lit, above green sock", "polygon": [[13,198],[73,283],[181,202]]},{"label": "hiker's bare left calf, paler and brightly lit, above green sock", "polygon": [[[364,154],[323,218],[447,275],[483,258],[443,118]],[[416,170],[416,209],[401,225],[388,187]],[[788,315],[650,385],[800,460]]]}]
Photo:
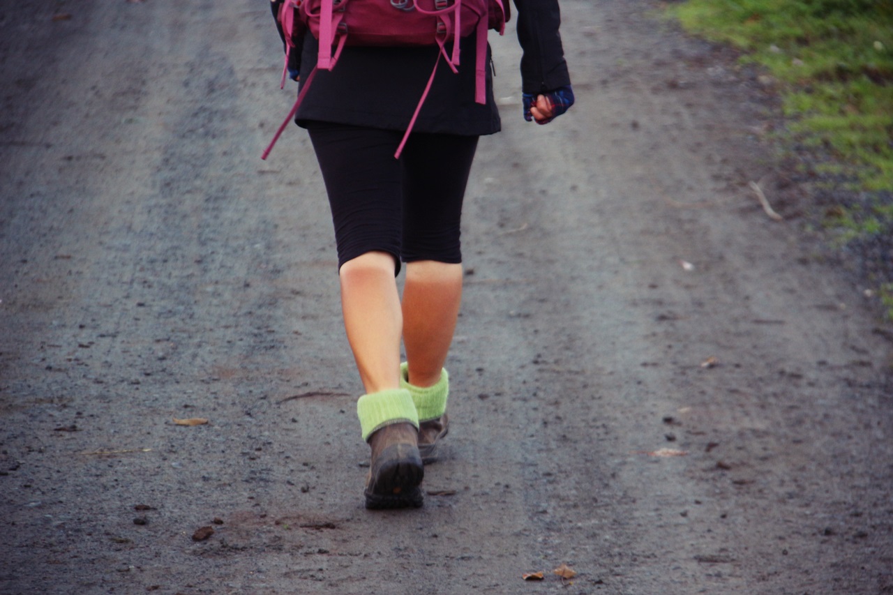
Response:
[{"label": "hiker's bare left calf, paler and brightly lit, above green sock", "polygon": [[341,309],[347,340],[366,392],[400,386],[403,316],[394,257],[367,252],[341,265]]}]

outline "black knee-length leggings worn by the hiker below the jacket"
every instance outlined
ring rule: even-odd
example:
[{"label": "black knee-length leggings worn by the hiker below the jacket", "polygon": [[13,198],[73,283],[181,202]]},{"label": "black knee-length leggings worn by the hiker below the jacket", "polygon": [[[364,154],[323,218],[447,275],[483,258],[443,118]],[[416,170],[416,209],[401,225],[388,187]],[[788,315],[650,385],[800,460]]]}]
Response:
[{"label": "black knee-length leggings worn by the hiker below the jacket", "polygon": [[403,133],[327,122],[307,126],[335,225],[338,268],[367,252],[461,263],[459,226],[478,137]]}]

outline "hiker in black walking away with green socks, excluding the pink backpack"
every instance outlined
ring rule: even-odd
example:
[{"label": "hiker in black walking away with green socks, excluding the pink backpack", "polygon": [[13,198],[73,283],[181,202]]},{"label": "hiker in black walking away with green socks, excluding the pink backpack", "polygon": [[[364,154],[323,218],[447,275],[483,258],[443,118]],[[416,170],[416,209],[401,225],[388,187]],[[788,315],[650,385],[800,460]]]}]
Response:
[{"label": "hiker in black walking away with green socks, excluding the pink backpack", "polygon": [[[514,5],[523,117],[545,124],[573,103],[559,7]],[[344,324],[364,389],[357,415],[371,447],[368,508],[420,507],[424,465],[449,429],[444,366],[462,298],[463,196],[478,138],[500,129],[489,69],[475,101],[475,36],[459,43],[458,72],[439,63],[405,147],[439,46],[346,46],[335,68],[314,72],[320,45],[304,34],[288,64],[302,86],[313,80],[296,122],[310,134],[330,201]]]}]

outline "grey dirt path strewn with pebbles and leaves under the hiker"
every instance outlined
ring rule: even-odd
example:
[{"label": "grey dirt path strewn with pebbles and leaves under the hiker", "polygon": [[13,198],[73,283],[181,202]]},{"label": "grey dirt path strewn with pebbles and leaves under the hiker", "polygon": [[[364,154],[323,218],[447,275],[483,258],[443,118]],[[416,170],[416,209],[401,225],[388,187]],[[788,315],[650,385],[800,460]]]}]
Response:
[{"label": "grey dirt path strewn with pebbles and leaves under the hiker", "polygon": [[796,214],[752,75],[654,9],[563,0],[545,128],[494,42],[453,429],[371,514],[266,4],[4,4],[0,592],[893,592],[889,328],[747,188]]}]

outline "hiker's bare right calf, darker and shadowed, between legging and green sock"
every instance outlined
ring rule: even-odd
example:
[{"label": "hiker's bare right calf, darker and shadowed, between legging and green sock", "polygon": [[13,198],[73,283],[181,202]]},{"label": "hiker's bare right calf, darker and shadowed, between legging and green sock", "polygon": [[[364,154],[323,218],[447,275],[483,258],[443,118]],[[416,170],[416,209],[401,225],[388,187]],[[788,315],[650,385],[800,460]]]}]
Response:
[{"label": "hiker's bare right calf, darker and shadowed, between legging and green sock", "polygon": [[403,342],[409,382],[415,386],[433,386],[440,380],[462,302],[462,277],[462,264],[406,264]]}]

